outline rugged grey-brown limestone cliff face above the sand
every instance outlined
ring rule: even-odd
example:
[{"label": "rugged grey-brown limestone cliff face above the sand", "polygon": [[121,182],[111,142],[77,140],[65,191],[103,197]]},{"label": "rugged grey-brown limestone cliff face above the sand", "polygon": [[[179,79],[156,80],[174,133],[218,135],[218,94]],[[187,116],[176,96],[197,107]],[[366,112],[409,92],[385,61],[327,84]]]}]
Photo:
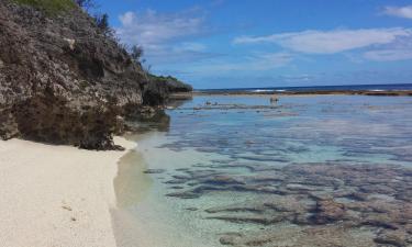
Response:
[{"label": "rugged grey-brown limestone cliff face above the sand", "polygon": [[1,138],[115,148],[127,112],[167,99],[154,83],[80,8],[51,16],[0,1]]}]

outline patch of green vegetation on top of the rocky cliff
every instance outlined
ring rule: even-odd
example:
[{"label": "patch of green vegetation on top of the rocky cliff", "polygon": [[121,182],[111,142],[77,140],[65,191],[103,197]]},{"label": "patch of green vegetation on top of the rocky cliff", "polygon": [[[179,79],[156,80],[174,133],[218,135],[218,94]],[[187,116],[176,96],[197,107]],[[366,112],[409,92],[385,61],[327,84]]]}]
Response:
[{"label": "patch of green vegetation on top of the rocky cliff", "polygon": [[56,15],[58,13],[76,8],[73,0],[12,0],[20,4],[31,5],[44,11],[47,15]]}]

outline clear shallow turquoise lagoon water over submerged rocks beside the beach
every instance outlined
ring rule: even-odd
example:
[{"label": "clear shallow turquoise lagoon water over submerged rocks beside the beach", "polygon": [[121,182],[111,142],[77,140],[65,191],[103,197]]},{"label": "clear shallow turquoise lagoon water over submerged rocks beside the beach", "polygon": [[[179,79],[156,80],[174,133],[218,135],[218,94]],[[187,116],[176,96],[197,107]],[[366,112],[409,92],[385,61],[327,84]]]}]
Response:
[{"label": "clear shallow turquoise lagoon water over submerged rocks beside the beach", "polygon": [[120,164],[120,246],[408,245],[411,98],[196,97],[167,113]]}]

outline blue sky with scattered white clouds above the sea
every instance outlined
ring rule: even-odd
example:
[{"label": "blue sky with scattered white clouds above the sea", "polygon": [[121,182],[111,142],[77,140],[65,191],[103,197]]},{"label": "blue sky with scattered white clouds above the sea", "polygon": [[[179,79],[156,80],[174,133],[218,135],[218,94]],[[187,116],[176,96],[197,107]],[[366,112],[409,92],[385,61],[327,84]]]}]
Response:
[{"label": "blue sky with scattered white clouds above the sea", "polygon": [[98,0],[144,66],[196,89],[412,83],[412,0]]}]

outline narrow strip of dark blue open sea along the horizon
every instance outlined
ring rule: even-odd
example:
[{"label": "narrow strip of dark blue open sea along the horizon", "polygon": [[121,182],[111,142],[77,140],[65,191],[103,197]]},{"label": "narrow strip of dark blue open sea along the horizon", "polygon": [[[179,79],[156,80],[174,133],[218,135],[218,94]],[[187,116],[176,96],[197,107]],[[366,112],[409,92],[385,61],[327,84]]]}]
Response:
[{"label": "narrow strip of dark blue open sea along the horizon", "polygon": [[412,83],[403,85],[341,85],[341,86],[311,86],[311,87],[268,87],[268,88],[231,88],[231,89],[201,89],[201,92],[311,92],[311,91],[398,91],[412,90]]}]

